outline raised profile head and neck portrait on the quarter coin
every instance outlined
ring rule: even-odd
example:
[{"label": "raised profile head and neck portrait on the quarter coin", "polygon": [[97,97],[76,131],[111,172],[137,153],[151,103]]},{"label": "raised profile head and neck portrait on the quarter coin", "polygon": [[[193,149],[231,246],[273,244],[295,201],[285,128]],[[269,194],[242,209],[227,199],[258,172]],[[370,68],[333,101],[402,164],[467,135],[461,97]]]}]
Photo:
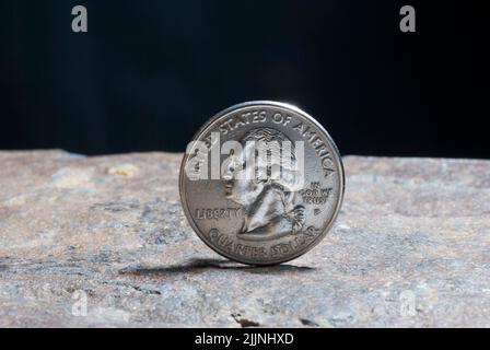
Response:
[{"label": "raised profile head and neck portrait on the quarter coin", "polygon": [[[243,208],[238,234],[258,240],[301,232],[305,215],[304,207],[298,203],[298,184],[303,183],[303,175],[296,170],[291,140],[276,129],[257,128],[249,130],[240,143],[241,152],[230,154],[222,175],[226,198]],[[290,147],[284,148],[284,143]],[[289,162],[272,156],[283,156],[284,152]]]}]

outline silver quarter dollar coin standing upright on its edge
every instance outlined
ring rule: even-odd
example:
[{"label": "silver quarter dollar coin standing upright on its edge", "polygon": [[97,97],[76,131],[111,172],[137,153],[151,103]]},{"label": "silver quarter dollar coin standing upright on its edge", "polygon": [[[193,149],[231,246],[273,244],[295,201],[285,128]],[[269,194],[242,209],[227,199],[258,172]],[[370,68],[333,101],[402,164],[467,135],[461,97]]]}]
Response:
[{"label": "silver quarter dollar coin standing upright on its edge", "polygon": [[332,226],[343,167],[327,131],[303,110],[256,101],[211,118],[180,166],[184,212],[217,253],[250,265],[299,257]]}]

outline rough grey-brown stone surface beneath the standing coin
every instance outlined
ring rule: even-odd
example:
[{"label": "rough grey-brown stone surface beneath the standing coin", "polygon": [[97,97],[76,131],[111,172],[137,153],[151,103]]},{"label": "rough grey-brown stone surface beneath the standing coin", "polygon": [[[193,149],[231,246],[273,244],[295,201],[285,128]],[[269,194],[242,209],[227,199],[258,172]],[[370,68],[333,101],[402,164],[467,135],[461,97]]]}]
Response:
[{"label": "rough grey-brown stone surface beneath the standing coin", "polygon": [[187,224],[180,158],[0,152],[0,326],[490,327],[490,162],[345,158],[331,232],[254,268]]}]

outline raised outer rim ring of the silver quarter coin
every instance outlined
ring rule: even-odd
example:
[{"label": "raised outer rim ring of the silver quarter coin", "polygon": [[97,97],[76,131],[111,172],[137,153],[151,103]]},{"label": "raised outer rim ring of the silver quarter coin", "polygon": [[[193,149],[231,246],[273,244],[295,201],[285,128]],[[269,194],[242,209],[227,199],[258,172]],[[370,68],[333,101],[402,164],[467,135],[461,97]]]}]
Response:
[{"label": "raised outer rim ring of the silver quarter coin", "polygon": [[228,254],[226,252],[222,252],[220,250],[219,247],[212,245],[211,243],[208,242],[208,238],[205,237],[205,234],[202,232],[200,232],[199,228],[197,226],[197,224],[194,222],[194,217],[191,215],[191,213],[189,212],[188,208],[187,208],[187,198],[186,198],[186,194],[184,191],[184,179],[185,179],[185,164],[187,162],[187,158],[188,154],[185,153],[184,158],[182,160],[180,163],[180,171],[179,171],[179,175],[178,175],[178,191],[179,191],[179,196],[180,196],[180,203],[182,203],[182,208],[184,210],[184,213],[187,218],[187,221],[189,222],[190,226],[192,228],[192,230],[196,232],[196,234],[199,236],[199,238],[208,246],[210,247],[212,250],[214,250],[215,253],[218,253],[219,255],[226,257],[233,261],[236,262],[241,262],[241,264],[246,264],[246,265],[252,265],[252,266],[271,266],[271,265],[279,265],[282,262],[287,262],[287,261],[291,261],[300,256],[302,256],[303,254],[310,252],[311,249],[313,249],[315,246],[317,246],[327,235],[327,233],[330,231],[331,226],[334,225],[335,221],[337,220],[337,217],[340,212],[340,208],[342,206],[343,202],[343,192],[345,192],[345,187],[346,187],[346,177],[345,177],[345,171],[343,171],[343,163],[342,163],[342,159],[340,156],[340,152],[337,148],[337,144],[334,142],[332,138],[330,137],[330,135],[327,132],[327,130],[325,130],[325,128],[315,119],[313,118],[311,115],[308,115],[307,113],[305,113],[304,110],[300,109],[299,107],[288,104],[288,103],[282,103],[282,102],[275,102],[275,101],[249,101],[249,102],[244,102],[244,103],[238,103],[235,104],[231,107],[228,107],[219,113],[217,113],[213,117],[211,117],[207,122],[205,122],[199,130],[194,135],[191,140],[199,140],[199,137],[205,133],[207,131],[207,129],[213,125],[218,119],[220,119],[221,117],[223,117],[226,114],[230,114],[231,112],[235,112],[235,110],[240,110],[242,108],[247,108],[250,106],[271,106],[271,107],[280,107],[283,109],[290,109],[296,114],[299,114],[300,116],[304,117],[306,120],[308,120],[310,122],[312,122],[316,128],[319,129],[319,131],[322,131],[327,141],[330,143],[332,151],[335,152],[336,155],[336,163],[337,163],[337,167],[339,168],[339,180],[340,180],[340,192],[339,192],[339,200],[337,201],[337,207],[335,208],[334,214],[331,215],[331,220],[330,222],[325,226],[325,230],[320,233],[320,235],[318,235],[318,237],[315,238],[315,241],[313,241],[310,245],[307,245],[305,248],[302,248],[300,250],[298,250],[296,253],[294,253],[291,256],[288,256],[287,258],[279,258],[276,260],[270,260],[270,261],[252,261],[252,260],[247,260],[245,259],[241,259],[240,257],[233,256]]}]

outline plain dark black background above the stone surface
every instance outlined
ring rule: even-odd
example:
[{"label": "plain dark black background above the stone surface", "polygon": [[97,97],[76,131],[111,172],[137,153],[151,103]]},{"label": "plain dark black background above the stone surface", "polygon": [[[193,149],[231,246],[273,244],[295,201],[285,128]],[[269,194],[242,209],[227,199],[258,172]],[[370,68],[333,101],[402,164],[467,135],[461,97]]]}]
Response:
[{"label": "plain dark black background above the stone surface", "polygon": [[1,0],[0,149],[183,151],[220,109],[277,100],[343,154],[490,158],[478,3]]}]

